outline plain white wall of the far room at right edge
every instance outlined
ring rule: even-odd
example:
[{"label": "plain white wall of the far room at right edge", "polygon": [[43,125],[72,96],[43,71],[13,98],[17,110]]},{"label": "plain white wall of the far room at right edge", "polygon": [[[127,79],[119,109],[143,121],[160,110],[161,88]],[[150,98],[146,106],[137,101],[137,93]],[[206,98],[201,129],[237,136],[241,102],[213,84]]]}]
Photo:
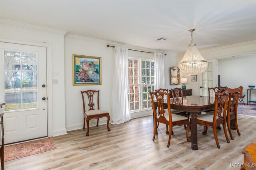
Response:
[{"label": "plain white wall of the far room at right edge", "polygon": [[[256,54],[218,60],[218,74],[222,86],[238,88],[243,86],[243,95],[248,85],[256,85]],[[256,101],[256,90],[251,92],[251,100]],[[247,101],[247,94],[244,102]]]}]

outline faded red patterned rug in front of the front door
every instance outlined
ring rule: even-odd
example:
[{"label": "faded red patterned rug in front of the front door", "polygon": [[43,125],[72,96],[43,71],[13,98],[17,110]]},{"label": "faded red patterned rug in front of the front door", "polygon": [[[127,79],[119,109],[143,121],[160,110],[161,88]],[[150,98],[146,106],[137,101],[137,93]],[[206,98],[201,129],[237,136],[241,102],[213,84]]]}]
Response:
[{"label": "faded red patterned rug in front of the front door", "polygon": [[52,137],[4,147],[4,162],[57,149]]}]

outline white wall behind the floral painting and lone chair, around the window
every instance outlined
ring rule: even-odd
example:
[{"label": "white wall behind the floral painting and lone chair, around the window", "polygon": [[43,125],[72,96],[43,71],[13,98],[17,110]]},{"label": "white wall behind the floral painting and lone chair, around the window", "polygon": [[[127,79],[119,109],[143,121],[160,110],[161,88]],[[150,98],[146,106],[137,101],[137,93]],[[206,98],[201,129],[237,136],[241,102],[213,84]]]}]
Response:
[{"label": "white wall behind the floral painting and lone chair, around the window", "polygon": [[[114,61],[114,49],[112,47],[106,47],[106,45],[120,45],[129,49],[155,52],[152,49],[145,49],[140,47],[134,47],[130,45],[122,45],[114,42],[103,41],[99,39],[91,39],[76,35],[67,34],[64,39],[65,45],[65,93],[66,93],[66,128],[68,131],[74,129],[81,129],[83,125],[83,107],[82,96],[80,91],[82,90],[100,90],[100,109],[106,110],[111,113],[111,94],[113,83],[113,61]],[[102,85],[84,85],[73,86],[72,84],[72,55],[87,55],[96,56],[102,58]],[[138,51],[128,51],[129,57],[142,58],[142,59],[154,59],[152,53],[141,53]],[[170,56],[169,53],[165,56],[166,70],[170,67],[169,63],[173,63],[175,56]],[[170,58],[169,58],[170,57]],[[168,64],[167,64],[168,63]],[[168,67],[167,67],[168,66]],[[169,72],[165,74],[168,77]],[[140,117],[144,115],[150,115],[152,111],[140,111],[131,113],[131,117]],[[106,118],[101,118],[99,124],[106,124]],[[96,119],[90,120],[90,126],[96,125]]]}]

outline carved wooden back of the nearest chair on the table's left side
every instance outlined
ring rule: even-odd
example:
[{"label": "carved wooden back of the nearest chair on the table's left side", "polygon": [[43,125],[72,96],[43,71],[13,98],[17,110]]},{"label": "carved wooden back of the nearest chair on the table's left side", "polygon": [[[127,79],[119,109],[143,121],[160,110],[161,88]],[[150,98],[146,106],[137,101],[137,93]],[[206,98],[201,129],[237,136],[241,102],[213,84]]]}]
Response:
[{"label": "carved wooden back of the nearest chair on the table's left side", "polygon": [[[161,91],[150,92],[150,97],[152,100],[153,115],[155,118],[157,118],[156,106],[154,104],[153,96],[155,96],[155,101],[158,104],[158,114],[159,114],[158,118],[166,119],[166,117],[164,116],[164,113],[166,113],[166,111],[164,110],[164,103],[167,100],[169,121],[172,122],[172,115],[171,115],[171,109],[170,109],[170,92],[168,92],[168,93],[161,92]],[[165,100],[165,98],[166,98],[166,100]]]}]

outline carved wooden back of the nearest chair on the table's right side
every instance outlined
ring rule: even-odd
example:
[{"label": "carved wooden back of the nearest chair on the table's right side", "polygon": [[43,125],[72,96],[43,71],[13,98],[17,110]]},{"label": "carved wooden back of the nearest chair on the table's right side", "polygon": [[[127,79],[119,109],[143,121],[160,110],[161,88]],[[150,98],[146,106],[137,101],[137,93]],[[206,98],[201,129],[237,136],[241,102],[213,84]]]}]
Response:
[{"label": "carved wooden back of the nearest chair on the table's right side", "polygon": [[[226,121],[226,111],[227,111],[227,102],[228,102],[228,92],[216,92],[215,93],[215,106],[214,106],[214,121],[218,121],[219,119],[223,119],[223,121]],[[218,105],[218,103],[220,103]],[[219,106],[219,107],[218,107]],[[223,112],[223,115],[222,115]]]}]

